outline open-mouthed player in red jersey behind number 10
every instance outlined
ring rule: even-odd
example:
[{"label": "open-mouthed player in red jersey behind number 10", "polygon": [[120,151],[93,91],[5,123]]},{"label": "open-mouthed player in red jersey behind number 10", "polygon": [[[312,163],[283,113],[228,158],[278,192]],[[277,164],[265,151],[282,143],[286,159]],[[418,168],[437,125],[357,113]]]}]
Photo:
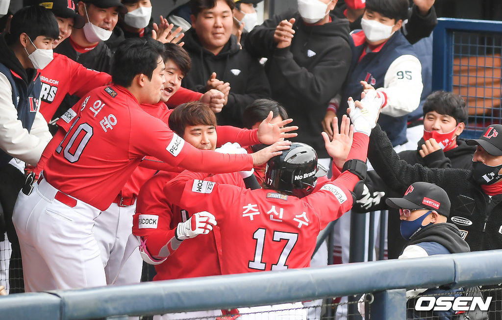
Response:
[{"label": "open-mouthed player in red jersey behind number 10", "polygon": [[[181,79],[190,70],[190,57],[185,50],[173,43],[164,44],[164,49],[163,59],[166,65],[166,82],[161,100],[157,104],[142,104],[141,107],[148,114],[168,123],[173,110],[168,109],[165,102],[178,92]],[[192,92],[191,90],[185,91]],[[218,98],[218,94],[220,98]],[[198,100],[202,94],[198,93],[198,96],[194,97],[190,93],[182,93],[179,96],[179,99],[185,97],[184,101],[188,102],[190,98]],[[206,97],[209,99],[208,104],[212,105],[213,109],[218,108],[218,104],[220,105],[219,108],[223,106],[223,94],[217,90],[205,93],[202,100]],[[178,101],[180,101],[179,99]],[[202,102],[194,103],[198,108],[209,110]],[[212,113],[212,111],[209,112]],[[214,117],[214,114],[212,116]],[[258,141],[258,134],[255,134],[257,130],[221,127],[218,131],[221,131],[219,144],[230,139],[239,143],[257,143],[256,141]],[[183,136],[183,133],[179,135]],[[156,172],[156,170],[152,169],[136,168],[128,182],[113,200],[113,203],[94,220],[93,233],[99,246],[107,284],[138,283],[141,280],[143,260],[140,252],[138,250],[133,251],[131,256],[126,257],[125,260],[124,255],[129,252],[127,246],[133,227],[132,218],[136,210],[136,198],[143,184],[152,178]],[[242,181],[242,179],[240,180]],[[135,246],[139,244],[139,241],[136,244],[129,243],[129,245]]]}]

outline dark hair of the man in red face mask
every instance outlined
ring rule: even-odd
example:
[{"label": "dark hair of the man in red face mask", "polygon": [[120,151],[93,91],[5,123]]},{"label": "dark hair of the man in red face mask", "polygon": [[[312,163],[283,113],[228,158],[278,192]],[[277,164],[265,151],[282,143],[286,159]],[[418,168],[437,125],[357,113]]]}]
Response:
[{"label": "dark hair of the man in red face mask", "polygon": [[436,111],[439,114],[449,115],[457,121],[467,122],[467,105],[465,100],[453,92],[434,91],[424,102],[424,116],[427,112]]}]

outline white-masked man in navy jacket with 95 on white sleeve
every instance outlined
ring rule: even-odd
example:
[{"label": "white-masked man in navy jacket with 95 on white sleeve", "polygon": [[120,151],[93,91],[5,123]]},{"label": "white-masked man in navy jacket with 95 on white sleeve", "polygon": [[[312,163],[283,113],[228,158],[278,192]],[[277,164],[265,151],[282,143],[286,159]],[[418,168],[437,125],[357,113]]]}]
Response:
[{"label": "white-masked man in navy jacket with 95 on white sleeve", "polygon": [[362,30],[351,34],[352,65],[337,111],[345,113],[347,97],[377,88],[384,98],[379,124],[395,147],[408,141],[407,114],[419,106],[423,88],[422,65],[399,32],[408,6],[408,0],[366,1]]}]

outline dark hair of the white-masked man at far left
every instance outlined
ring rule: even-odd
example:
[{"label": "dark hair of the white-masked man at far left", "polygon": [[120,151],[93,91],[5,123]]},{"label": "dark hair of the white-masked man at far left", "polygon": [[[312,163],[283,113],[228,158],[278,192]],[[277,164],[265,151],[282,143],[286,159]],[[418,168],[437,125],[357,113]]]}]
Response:
[{"label": "dark hair of the white-masked man at far left", "polygon": [[6,35],[8,45],[19,42],[19,36],[26,33],[32,42],[39,36],[59,38],[59,25],[52,11],[41,6],[25,7],[17,11],[11,20],[11,31]]}]

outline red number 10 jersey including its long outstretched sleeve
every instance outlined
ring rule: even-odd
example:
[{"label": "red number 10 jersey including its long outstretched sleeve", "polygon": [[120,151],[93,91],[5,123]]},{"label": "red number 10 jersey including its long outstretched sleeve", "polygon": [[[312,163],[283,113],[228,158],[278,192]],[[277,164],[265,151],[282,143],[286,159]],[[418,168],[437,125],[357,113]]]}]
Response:
[{"label": "red number 10 jersey including its long outstretched sleeve", "polygon": [[69,128],[62,140],[56,134],[56,141],[49,143],[55,150],[45,164],[44,177],[60,191],[100,210],[108,208],[145,155],[200,172],[253,167],[248,154],[199,150],[185,143],[166,123],[145,112],[131,92],[116,85],[89,92],[58,121],[64,127],[62,122]]}]

